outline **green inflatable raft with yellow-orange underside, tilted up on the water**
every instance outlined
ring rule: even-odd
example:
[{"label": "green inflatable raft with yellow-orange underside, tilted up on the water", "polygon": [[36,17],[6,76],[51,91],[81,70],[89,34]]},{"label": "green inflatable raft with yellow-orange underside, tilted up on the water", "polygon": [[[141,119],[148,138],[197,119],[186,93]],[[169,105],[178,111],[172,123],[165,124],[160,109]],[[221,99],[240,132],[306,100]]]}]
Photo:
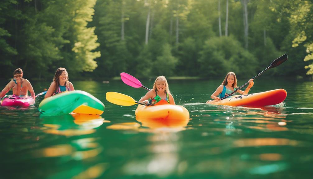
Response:
[{"label": "green inflatable raft with yellow-orange underside, tilted up on the water", "polygon": [[101,115],[104,104],[85,91],[65,91],[44,99],[38,110],[44,115],[62,115],[69,113]]}]

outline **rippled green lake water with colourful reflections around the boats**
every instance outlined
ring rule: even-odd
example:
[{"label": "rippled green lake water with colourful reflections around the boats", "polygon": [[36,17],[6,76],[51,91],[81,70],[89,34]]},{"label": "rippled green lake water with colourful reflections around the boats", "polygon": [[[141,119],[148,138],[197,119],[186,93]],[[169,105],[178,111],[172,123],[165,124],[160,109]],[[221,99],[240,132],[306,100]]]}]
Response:
[{"label": "rippled green lake water with colourful reflections around the boats", "polygon": [[[142,126],[135,105],[106,101],[108,91],[145,95],[121,80],[72,81],[105,104],[97,119],[40,116],[43,97],[26,109],[0,107],[0,178],[312,178],[313,82],[259,77],[250,93],[287,91],[275,106],[204,104],[222,80],[169,80],[191,118],[176,128]],[[38,94],[50,82],[32,84]]]}]

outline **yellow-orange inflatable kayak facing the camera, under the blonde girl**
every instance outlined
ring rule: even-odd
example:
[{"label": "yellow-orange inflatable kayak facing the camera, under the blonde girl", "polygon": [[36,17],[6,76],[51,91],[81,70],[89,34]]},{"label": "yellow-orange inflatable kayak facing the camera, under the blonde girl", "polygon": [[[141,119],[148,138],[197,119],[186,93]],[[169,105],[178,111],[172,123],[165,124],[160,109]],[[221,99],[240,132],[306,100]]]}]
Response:
[{"label": "yellow-orange inflatable kayak facing the camera, under the blonde girl", "polygon": [[189,122],[188,110],[180,105],[138,105],[136,120],[143,126],[156,127],[183,127]]}]

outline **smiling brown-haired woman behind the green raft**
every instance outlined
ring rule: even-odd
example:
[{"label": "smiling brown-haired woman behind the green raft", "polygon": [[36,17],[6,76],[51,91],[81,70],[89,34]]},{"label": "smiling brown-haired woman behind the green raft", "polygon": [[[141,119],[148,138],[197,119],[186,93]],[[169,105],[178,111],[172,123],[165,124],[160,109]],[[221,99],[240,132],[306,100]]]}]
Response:
[{"label": "smiling brown-haired woman behind the green raft", "polygon": [[48,98],[64,91],[74,91],[74,86],[71,82],[69,82],[68,75],[69,74],[65,68],[58,68],[46,95],[44,95],[44,98]]}]

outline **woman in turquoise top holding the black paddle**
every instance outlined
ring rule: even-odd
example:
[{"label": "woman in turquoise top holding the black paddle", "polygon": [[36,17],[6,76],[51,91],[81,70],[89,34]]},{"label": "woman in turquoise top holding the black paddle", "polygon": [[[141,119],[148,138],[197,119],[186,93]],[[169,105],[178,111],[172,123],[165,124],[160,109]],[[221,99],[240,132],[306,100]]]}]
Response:
[{"label": "woman in turquoise top holding the black paddle", "polygon": [[[246,90],[244,90],[244,91],[238,90],[236,93],[239,93],[241,95],[248,94],[250,88],[254,84],[253,79],[250,79],[248,82],[249,82],[249,85],[246,88]],[[229,95],[230,93],[232,93],[236,89],[237,89],[236,74],[233,73],[233,72],[228,72],[228,74],[226,75],[223,83],[215,90],[215,92],[211,95],[211,98],[213,100],[220,100],[221,98],[223,98],[224,96]]]}]

